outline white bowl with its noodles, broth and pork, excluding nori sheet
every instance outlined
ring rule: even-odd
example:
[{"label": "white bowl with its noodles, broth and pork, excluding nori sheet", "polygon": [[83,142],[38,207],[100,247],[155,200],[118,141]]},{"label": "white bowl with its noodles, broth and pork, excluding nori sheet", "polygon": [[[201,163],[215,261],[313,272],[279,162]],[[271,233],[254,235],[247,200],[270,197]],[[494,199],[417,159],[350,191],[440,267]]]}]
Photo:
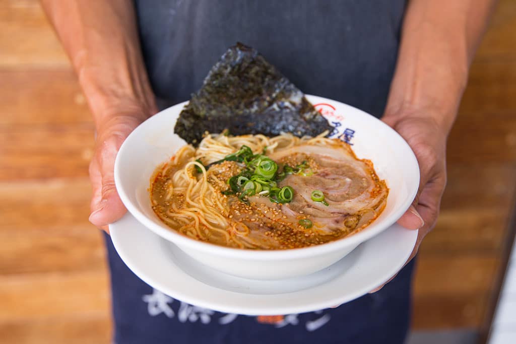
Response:
[{"label": "white bowl with its noodles, broth and pork, excluding nori sheet", "polygon": [[[333,133],[174,134],[186,103],[137,127],[115,163],[122,202],[215,270],[257,280],[310,274],[394,224],[417,192],[409,145],[369,114],[307,96]],[[331,135],[329,135],[331,134]]]}]

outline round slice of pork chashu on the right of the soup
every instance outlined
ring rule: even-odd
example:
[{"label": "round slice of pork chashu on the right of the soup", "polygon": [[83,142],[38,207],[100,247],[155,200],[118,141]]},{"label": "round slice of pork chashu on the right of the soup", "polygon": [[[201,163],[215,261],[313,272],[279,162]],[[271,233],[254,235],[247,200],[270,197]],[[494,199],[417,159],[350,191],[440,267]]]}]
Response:
[{"label": "round slice of pork chashu on the right of the soup", "polygon": [[[305,144],[269,155],[273,160],[289,165],[310,161],[313,175],[289,175],[281,185],[296,191],[291,203],[282,211],[293,217],[310,215],[311,221],[324,232],[349,232],[365,227],[378,217],[385,207],[389,189],[376,175],[369,160],[359,160],[349,146],[335,140],[334,144]],[[314,202],[313,190],[325,195],[328,205]]]}]

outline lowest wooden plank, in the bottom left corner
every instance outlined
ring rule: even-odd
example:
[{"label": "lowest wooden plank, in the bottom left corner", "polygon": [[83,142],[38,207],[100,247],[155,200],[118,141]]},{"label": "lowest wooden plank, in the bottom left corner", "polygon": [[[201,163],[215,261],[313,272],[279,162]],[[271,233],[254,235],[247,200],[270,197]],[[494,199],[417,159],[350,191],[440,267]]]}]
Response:
[{"label": "lowest wooden plank, in the bottom left corner", "polygon": [[109,344],[109,315],[0,323],[0,338],[12,344]]}]

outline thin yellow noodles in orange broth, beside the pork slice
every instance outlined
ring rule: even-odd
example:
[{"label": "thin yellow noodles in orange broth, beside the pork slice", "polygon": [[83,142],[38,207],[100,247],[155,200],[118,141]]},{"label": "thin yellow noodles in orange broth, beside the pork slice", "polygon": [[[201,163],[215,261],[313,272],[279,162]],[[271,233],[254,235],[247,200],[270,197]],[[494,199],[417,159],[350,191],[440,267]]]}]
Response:
[{"label": "thin yellow noodles in orange broth, beside the pork slice", "polygon": [[[325,234],[320,228],[316,228],[317,226],[314,226],[311,232],[307,230],[297,233],[295,227],[298,220],[295,220],[296,226],[292,223],[285,224],[283,220],[286,218],[285,215],[291,216],[292,213],[292,216],[295,216],[295,213],[290,211],[282,214],[277,204],[255,206],[254,210],[262,207],[260,215],[255,216],[251,214],[250,206],[239,202],[235,196],[222,193],[228,188],[228,179],[240,173],[243,167],[234,161],[220,163],[220,160],[238,152],[243,145],[248,146],[253,154],[274,154],[300,144],[335,145],[335,140],[326,138],[326,134],[325,132],[314,138],[298,138],[291,134],[271,138],[264,135],[232,137],[209,134],[200,142],[197,149],[191,145],[183,146],[160,168],[151,185],[153,209],[168,226],[188,237],[230,247],[263,248],[254,242],[256,238],[263,242],[271,241],[277,239],[277,233],[281,231],[290,231],[288,233],[292,238],[309,240],[304,245],[334,240],[337,234]],[[214,162],[217,164],[211,168],[205,167]],[[247,220],[233,219],[233,215],[241,217],[247,213],[251,214]],[[303,215],[302,219],[305,218],[307,216]],[[273,231],[255,233],[253,228],[262,227],[262,221],[268,221],[268,227],[273,228]],[[253,225],[252,228],[249,227],[250,224]],[[310,236],[307,234],[309,232],[313,234]],[[312,238],[314,234],[321,237],[320,242],[319,238]],[[251,236],[254,236],[254,239]]]}]

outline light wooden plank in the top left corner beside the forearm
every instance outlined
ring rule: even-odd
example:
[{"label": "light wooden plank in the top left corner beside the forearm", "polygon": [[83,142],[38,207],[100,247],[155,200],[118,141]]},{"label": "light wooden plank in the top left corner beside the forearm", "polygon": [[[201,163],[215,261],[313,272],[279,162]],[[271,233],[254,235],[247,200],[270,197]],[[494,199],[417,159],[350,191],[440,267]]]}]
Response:
[{"label": "light wooden plank in the top left corner beside the forearm", "polygon": [[70,68],[37,0],[2,0],[0,32],[0,68]]}]

